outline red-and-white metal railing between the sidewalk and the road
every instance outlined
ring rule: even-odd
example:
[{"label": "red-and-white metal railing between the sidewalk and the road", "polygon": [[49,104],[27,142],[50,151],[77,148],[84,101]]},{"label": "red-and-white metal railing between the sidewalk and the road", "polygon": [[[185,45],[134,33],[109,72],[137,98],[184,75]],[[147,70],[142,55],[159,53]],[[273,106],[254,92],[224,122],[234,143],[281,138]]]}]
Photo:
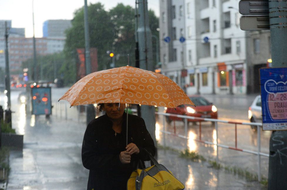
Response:
[{"label": "red-and-white metal railing between the sidewalk and the road", "polygon": [[[166,126],[165,126],[166,118],[163,117],[163,130],[160,130],[160,132],[163,133],[163,146],[166,146],[165,134],[177,136],[177,137],[184,138],[184,139],[189,139],[188,138],[188,119],[197,119],[197,120],[199,120],[199,123],[200,123],[199,124],[199,139],[191,139],[191,140],[194,140],[194,141],[200,142],[200,143],[205,143],[205,144],[210,144],[210,145],[217,146],[217,153],[216,153],[216,161],[217,162],[218,162],[218,155],[219,155],[218,147],[228,148],[228,149],[242,151],[242,152],[249,153],[249,154],[258,155],[258,171],[257,171],[257,174],[258,174],[258,181],[259,182],[261,181],[261,156],[269,157],[269,154],[260,152],[261,151],[261,133],[260,133],[261,129],[260,129],[260,126],[262,126],[262,123],[234,122],[234,121],[225,121],[225,120],[219,120],[219,119],[208,119],[208,118],[192,117],[192,116],[184,116],[184,115],[168,114],[168,113],[160,113],[160,112],[156,112],[156,114],[163,115],[163,116],[173,116],[173,117],[178,117],[178,118],[183,118],[184,119],[185,135],[180,135],[180,134],[171,133],[169,131],[166,131]],[[215,123],[216,143],[213,143],[213,142],[210,142],[210,141],[203,141],[201,139],[201,121],[212,121],[212,122]],[[234,134],[234,136],[235,136],[235,146],[234,147],[218,144],[218,138],[217,138],[218,137],[218,122],[235,124],[235,134]],[[246,149],[241,149],[241,148],[237,147],[237,124],[257,126],[257,151],[246,150]]]}]

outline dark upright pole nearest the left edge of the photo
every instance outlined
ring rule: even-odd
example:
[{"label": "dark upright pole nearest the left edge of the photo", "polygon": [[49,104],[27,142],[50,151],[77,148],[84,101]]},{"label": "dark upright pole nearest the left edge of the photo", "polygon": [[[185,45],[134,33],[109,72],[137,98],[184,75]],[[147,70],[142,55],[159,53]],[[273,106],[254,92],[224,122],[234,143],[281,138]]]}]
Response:
[{"label": "dark upright pole nearest the left edge of the photo", "polygon": [[11,92],[10,92],[10,70],[9,70],[9,53],[8,53],[8,28],[5,21],[5,88],[7,90],[7,110],[11,109]]}]

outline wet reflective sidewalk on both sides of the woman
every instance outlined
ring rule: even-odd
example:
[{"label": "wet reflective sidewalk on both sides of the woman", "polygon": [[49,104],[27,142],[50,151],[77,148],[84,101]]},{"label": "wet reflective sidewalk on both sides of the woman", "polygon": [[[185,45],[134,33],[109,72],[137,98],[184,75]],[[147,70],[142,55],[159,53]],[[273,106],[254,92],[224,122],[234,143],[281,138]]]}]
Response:
[{"label": "wet reflective sidewalk on both sides of the woman", "polygon": [[[15,117],[14,117],[15,118]],[[23,118],[22,118],[23,119]],[[85,123],[44,116],[23,120],[23,151],[11,151],[7,190],[84,190],[88,170],[82,166],[81,145]],[[158,162],[173,172],[185,189],[267,189],[247,182],[208,162],[192,162],[177,153],[158,150]]]}]

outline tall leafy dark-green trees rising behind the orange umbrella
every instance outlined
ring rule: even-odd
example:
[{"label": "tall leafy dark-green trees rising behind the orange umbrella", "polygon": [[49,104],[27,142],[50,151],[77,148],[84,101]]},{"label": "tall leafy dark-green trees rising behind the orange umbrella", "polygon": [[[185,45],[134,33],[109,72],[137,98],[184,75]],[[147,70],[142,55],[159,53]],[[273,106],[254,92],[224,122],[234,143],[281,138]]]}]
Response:
[{"label": "tall leafy dark-green trees rising behind the orange umbrella", "polygon": [[[158,36],[158,18],[153,11],[149,11],[149,22],[151,31]],[[127,65],[129,54],[129,65],[135,62],[135,19],[134,8],[117,4],[110,11],[105,11],[101,3],[88,6],[88,23],[90,33],[90,47],[98,50],[98,70],[108,69],[112,59],[107,51],[114,52],[115,67]],[[155,44],[154,49],[155,49]],[[66,43],[64,54],[66,61],[61,71],[64,72],[64,82],[75,82],[77,48],[85,48],[84,35],[84,8],[75,11],[72,19],[72,27],[66,30]],[[156,59],[156,54],[154,54]],[[155,61],[154,61],[155,62]]]}]

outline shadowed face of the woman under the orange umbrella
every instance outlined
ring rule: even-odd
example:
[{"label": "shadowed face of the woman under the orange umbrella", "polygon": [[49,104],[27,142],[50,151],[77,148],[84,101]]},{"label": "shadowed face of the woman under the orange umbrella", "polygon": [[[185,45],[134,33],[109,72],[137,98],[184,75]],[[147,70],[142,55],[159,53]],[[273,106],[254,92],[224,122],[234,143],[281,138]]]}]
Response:
[{"label": "shadowed face of the woman under the orange umbrella", "polygon": [[120,119],[124,114],[125,104],[119,103],[104,103],[103,110],[107,113],[107,116],[111,119]]}]

